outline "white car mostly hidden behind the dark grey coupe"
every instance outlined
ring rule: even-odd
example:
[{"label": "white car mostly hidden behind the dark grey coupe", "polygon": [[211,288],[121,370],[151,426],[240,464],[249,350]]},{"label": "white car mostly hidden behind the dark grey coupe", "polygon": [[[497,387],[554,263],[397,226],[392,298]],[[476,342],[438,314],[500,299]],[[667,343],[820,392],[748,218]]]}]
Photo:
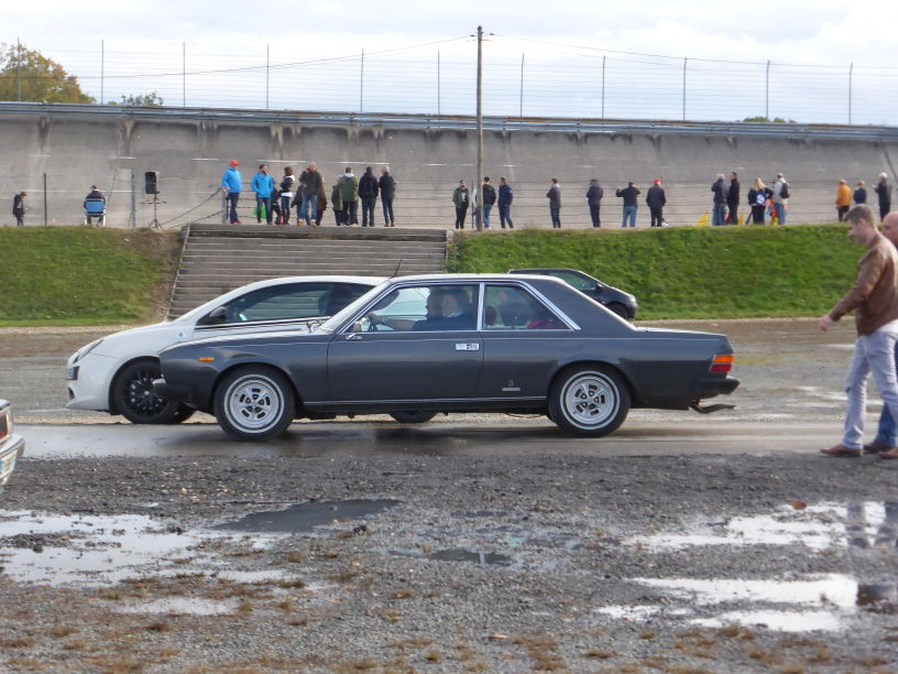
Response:
[{"label": "white car mostly hidden behind the dark grey coupe", "polygon": [[158,352],[179,341],[239,333],[308,331],[381,283],[376,276],[289,276],[259,281],[155,325],[116,333],[68,359],[70,410],[121,414],[135,424],[179,423],[193,409],[158,398]]}]

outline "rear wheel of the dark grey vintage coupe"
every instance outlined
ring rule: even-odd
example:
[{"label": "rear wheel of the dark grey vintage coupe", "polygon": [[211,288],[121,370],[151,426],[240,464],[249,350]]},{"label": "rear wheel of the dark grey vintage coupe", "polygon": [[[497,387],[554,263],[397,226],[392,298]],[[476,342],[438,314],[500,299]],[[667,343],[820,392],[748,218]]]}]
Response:
[{"label": "rear wheel of the dark grey vintage coupe", "polygon": [[628,412],[626,382],[616,370],[604,366],[565,370],[549,393],[549,418],[571,435],[610,435],[624,423]]}]

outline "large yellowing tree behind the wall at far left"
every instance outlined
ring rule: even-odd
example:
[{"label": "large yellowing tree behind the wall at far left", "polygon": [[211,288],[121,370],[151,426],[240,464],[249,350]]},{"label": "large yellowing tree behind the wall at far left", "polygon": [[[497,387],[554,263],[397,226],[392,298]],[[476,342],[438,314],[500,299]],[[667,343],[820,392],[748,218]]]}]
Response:
[{"label": "large yellowing tree behind the wall at far left", "polygon": [[78,78],[55,61],[22,45],[0,43],[0,100],[96,102]]}]

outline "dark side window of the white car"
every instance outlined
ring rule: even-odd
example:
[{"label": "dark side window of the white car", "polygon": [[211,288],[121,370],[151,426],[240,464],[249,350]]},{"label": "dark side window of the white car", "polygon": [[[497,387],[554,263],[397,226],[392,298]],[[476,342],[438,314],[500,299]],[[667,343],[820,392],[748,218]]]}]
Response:
[{"label": "dark side window of the white car", "polygon": [[331,290],[332,285],[329,283],[291,283],[261,287],[226,304],[223,323],[326,316]]}]

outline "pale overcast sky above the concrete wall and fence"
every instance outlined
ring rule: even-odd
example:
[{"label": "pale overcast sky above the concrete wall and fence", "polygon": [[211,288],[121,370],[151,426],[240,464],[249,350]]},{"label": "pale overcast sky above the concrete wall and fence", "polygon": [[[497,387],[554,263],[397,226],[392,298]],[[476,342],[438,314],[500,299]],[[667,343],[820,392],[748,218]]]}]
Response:
[{"label": "pale overcast sky above the concrete wall and fence", "polygon": [[[603,55],[609,59],[603,102],[610,117],[678,115],[682,104],[682,93],[678,93],[682,62],[640,59],[635,55],[649,54],[689,57],[690,67],[696,68],[689,73],[690,118],[763,115],[766,104],[771,117],[845,122],[847,68],[854,63],[854,123],[898,123],[898,113],[891,112],[896,90],[890,84],[898,79],[898,53],[892,47],[898,2],[853,4],[844,0],[815,0],[753,8],[704,0],[638,3],[317,0],[271,2],[264,8],[262,13],[259,6],[227,0],[215,3],[95,0],[89,4],[50,0],[35,11],[25,2],[15,2],[3,8],[0,41],[9,44],[21,39],[30,48],[59,61],[83,78],[86,89],[98,96],[99,42],[103,40],[105,98],[150,89],[164,91],[166,104],[174,105],[182,104],[183,95],[186,105],[262,107],[267,96],[273,108],[348,109],[362,105],[365,109],[381,110],[387,106],[398,111],[431,112],[440,105],[442,112],[464,112],[471,102],[469,65],[475,54],[471,40],[381,56],[377,53],[464,37],[480,23],[484,31],[495,33],[484,45],[486,68],[492,67],[488,81],[492,76],[494,85],[493,96],[488,95],[486,100],[488,112],[492,113],[517,113],[519,75],[513,68],[518,67],[514,64],[519,64],[522,54],[526,54],[527,68],[532,69],[525,72],[525,115],[571,115],[566,108],[570,104],[567,97],[574,96],[577,105],[587,110],[584,117],[598,117],[602,107],[598,90]],[[371,78],[363,93],[368,104],[354,100],[359,89],[358,61],[316,67],[319,79],[306,78],[309,68],[302,74],[303,78],[293,70],[273,72],[275,81],[267,85],[271,91],[263,91],[264,79],[259,73],[252,85],[236,75],[228,79],[221,79],[223,75],[191,75],[184,86],[186,93],[180,91],[183,83],[173,76],[167,80],[127,80],[128,74],[180,70],[183,42],[187,45],[188,75],[217,66],[264,66],[266,45],[271,64],[352,55],[364,48],[374,54],[365,64],[366,76]],[[447,68],[441,72],[445,90],[439,104],[431,91],[436,89],[436,68],[431,63],[437,51]],[[379,57],[383,61],[381,70]],[[763,67],[693,63],[702,58],[756,63],[771,59],[773,100],[762,104],[759,99],[765,88]],[[409,64],[407,69],[403,63]],[[791,65],[777,72],[776,64]],[[455,79],[453,65],[458,68]],[[589,70],[585,79],[576,76],[576,70],[582,69]],[[573,76],[568,77],[569,74]],[[117,75],[121,79],[117,80]],[[410,77],[407,96],[403,91],[403,75]],[[634,84],[639,81],[642,87]],[[245,94],[248,86],[252,96]],[[724,91],[730,107],[715,109],[715,91],[726,86],[735,86],[734,90]],[[310,87],[315,96],[293,98],[296,89]],[[789,96],[796,91],[800,96],[792,102]],[[309,98],[317,102],[313,105]],[[883,102],[878,104],[880,99]],[[657,106],[657,111],[653,106]]]}]

